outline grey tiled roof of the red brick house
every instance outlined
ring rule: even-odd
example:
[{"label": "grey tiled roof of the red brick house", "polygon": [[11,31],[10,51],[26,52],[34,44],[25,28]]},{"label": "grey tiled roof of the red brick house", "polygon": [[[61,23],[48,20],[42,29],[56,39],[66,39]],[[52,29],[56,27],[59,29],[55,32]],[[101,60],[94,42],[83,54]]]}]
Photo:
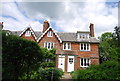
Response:
[{"label": "grey tiled roof of the red brick house", "polygon": [[[11,31],[14,35],[20,35],[22,31]],[[41,31],[34,31],[35,36],[37,39],[42,35]],[[89,39],[77,39],[77,33],[67,33],[67,32],[56,32],[60,39],[63,42],[91,42],[91,43],[99,43],[99,40],[97,40],[95,37],[91,37]],[[87,32],[89,33],[89,32]]]}]

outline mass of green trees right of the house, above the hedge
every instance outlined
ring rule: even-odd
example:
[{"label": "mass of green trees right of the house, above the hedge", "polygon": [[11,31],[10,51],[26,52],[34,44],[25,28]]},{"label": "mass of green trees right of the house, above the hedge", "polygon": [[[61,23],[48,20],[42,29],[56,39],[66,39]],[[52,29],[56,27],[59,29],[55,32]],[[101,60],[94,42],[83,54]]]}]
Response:
[{"label": "mass of green trees right of the house, above the hedge", "polygon": [[120,27],[115,27],[115,32],[103,33],[100,39],[100,63],[109,60],[120,60]]}]

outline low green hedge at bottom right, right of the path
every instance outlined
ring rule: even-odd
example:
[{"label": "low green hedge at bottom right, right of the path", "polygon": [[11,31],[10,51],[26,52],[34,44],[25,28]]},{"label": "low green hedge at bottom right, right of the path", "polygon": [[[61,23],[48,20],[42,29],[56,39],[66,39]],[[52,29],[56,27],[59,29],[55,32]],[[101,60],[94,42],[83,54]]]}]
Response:
[{"label": "low green hedge at bottom right, right of the path", "polygon": [[86,80],[119,80],[120,79],[120,65],[117,61],[107,61],[101,65],[92,65],[87,70],[77,70],[72,73],[76,81]]}]

